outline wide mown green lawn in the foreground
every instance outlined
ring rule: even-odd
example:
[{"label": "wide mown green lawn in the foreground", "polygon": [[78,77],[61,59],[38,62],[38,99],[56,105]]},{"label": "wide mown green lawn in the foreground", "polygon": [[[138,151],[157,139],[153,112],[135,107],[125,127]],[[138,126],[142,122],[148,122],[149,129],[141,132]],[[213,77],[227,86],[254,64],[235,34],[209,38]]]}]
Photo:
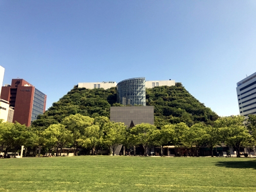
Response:
[{"label": "wide mown green lawn in the foreground", "polygon": [[3,192],[256,192],[256,159],[0,159],[0,181]]}]

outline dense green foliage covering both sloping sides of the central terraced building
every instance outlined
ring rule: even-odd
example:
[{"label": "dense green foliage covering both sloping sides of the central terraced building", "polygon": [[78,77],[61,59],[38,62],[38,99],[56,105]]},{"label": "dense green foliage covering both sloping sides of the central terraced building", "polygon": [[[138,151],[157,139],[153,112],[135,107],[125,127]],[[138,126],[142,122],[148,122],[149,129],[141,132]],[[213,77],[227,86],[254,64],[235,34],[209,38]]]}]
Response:
[{"label": "dense green foliage covering both sloping sides of the central terraced building", "polygon": [[[74,87],[63,96],[37,120],[32,126],[37,129],[48,128],[52,124],[61,123],[62,120],[75,114],[83,116],[110,117],[110,106],[123,106],[117,103],[116,88],[86,89]],[[161,86],[153,89],[146,89],[147,105],[154,106],[155,125],[161,128],[167,124],[178,124],[180,122],[192,126],[198,122],[205,122],[212,125],[218,118],[210,108],[204,106],[195,99],[189,92],[177,83],[176,86]]]}]

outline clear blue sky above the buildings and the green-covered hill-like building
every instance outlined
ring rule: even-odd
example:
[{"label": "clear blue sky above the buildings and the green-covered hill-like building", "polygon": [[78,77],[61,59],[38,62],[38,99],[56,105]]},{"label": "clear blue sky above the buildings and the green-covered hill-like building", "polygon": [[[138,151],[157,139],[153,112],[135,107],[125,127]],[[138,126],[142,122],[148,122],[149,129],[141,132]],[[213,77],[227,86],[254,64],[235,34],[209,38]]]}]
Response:
[{"label": "clear blue sky above the buildings and the green-covered hill-like building", "polygon": [[236,115],[236,83],[256,72],[256,0],[0,0],[0,65],[47,108],[80,82],[146,77]]}]

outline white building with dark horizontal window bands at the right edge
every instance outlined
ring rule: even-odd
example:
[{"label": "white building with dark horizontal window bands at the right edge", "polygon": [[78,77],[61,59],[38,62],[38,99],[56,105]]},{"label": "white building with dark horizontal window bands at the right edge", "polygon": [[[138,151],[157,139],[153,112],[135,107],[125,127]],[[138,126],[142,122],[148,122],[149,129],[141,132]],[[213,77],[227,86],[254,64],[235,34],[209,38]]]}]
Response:
[{"label": "white building with dark horizontal window bands at the right edge", "polygon": [[256,72],[237,83],[236,93],[240,115],[256,114]]}]

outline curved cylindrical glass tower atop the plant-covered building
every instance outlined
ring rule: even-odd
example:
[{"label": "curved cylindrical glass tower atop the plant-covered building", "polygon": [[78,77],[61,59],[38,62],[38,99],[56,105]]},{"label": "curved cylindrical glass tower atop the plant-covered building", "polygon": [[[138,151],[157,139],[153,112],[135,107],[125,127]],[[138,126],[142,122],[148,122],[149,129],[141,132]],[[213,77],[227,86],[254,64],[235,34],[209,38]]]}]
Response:
[{"label": "curved cylindrical glass tower atop the plant-covered building", "polygon": [[146,106],[145,77],[119,82],[117,84],[117,101],[123,105]]}]

